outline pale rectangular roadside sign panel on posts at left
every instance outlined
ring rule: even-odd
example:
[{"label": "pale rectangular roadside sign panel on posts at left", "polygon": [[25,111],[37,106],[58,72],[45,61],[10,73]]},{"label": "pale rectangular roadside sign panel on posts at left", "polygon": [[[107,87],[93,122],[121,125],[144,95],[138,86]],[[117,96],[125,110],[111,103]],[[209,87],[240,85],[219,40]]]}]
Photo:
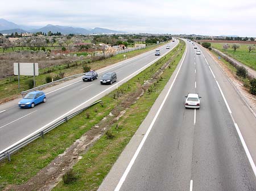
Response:
[{"label": "pale rectangular roadside sign panel on posts at left", "polygon": [[13,63],[14,75],[39,75],[38,63]]}]

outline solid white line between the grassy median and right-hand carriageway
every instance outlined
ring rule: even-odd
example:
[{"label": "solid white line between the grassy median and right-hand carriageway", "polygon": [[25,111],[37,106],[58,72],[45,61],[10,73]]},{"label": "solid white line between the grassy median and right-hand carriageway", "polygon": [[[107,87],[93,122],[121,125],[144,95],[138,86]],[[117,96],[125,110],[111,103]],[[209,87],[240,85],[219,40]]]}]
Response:
[{"label": "solid white line between the grassy median and right-hand carriageway", "polygon": [[[187,46],[186,46],[186,50],[185,50],[185,55],[186,55],[186,54],[187,54]],[[170,94],[170,92],[171,92],[172,86],[174,86],[174,82],[175,82],[175,80],[176,80],[176,78],[177,78],[177,75],[179,74],[179,71],[180,71],[180,69],[181,69],[181,66],[182,66],[182,64],[183,64],[184,59],[185,59],[185,56],[183,57],[183,60],[181,61],[180,67],[179,67],[179,69],[178,69],[178,71],[177,71],[177,73],[176,73],[176,75],[175,75],[174,81],[172,82],[172,84],[171,84],[171,86],[170,86],[170,88],[169,88],[169,90],[168,90],[166,96],[164,97],[164,99],[163,99],[163,101],[162,101],[162,104],[160,105],[158,111],[156,112],[155,117],[153,118],[153,120],[152,120],[150,126],[148,127],[148,129],[147,129],[147,131],[146,131],[146,134],[144,135],[144,137],[143,137],[141,143],[139,144],[137,150],[135,151],[135,154],[133,155],[133,158],[131,159],[130,163],[128,164],[127,168],[125,169],[125,172],[123,173],[123,175],[122,175],[121,179],[119,180],[117,186],[115,187],[114,191],[119,191],[119,190],[121,189],[121,186],[123,185],[123,182],[125,181],[125,179],[126,179],[128,173],[130,172],[130,169],[131,169],[131,167],[133,166],[133,164],[134,164],[134,162],[135,162],[135,160],[136,160],[136,158],[137,158],[139,152],[141,151],[141,148],[142,148],[142,146],[144,145],[144,142],[146,141],[148,134],[150,133],[150,131],[151,131],[153,125],[155,124],[156,118],[158,118],[158,115],[159,115],[160,111],[162,110],[163,105],[164,105],[164,103],[166,102],[167,97],[169,96],[169,94]]]}]

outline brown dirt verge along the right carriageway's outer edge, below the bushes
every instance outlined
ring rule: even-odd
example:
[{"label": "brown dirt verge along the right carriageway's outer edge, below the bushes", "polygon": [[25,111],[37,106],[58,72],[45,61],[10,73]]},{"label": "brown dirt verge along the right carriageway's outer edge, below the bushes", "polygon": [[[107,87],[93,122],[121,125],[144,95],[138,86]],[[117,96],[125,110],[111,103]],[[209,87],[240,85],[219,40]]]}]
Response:
[{"label": "brown dirt verge along the right carriageway's outer edge, below the bushes", "polygon": [[256,113],[256,96],[250,94],[249,88],[246,88],[243,86],[243,82],[241,82],[238,78],[236,73],[233,73],[230,71],[228,66],[226,66],[225,63],[223,63],[221,60],[218,60],[217,57],[210,52],[210,50],[207,50],[210,56],[218,63],[221,70],[224,71],[224,74],[229,78],[230,82],[232,82],[233,86],[236,87],[237,91],[242,95],[242,97],[245,99],[247,104],[250,106],[251,109],[253,109],[254,113]]}]

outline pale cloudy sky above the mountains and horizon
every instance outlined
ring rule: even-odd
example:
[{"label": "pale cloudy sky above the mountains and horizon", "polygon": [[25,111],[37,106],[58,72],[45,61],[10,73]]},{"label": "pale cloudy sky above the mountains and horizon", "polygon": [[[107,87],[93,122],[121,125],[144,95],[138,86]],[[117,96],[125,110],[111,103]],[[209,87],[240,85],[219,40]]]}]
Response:
[{"label": "pale cloudy sky above the mountains and horizon", "polygon": [[24,26],[256,37],[255,0],[2,1],[0,18]]}]

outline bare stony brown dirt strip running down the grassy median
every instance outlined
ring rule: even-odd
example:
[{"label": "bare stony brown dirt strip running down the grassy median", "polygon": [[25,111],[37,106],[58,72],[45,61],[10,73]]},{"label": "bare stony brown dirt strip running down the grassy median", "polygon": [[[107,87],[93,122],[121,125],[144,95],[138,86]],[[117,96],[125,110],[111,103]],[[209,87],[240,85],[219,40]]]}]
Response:
[{"label": "bare stony brown dirt strip running down the grassy median", "polygon": [[63,154],[57,156],[47,167],[39,171],[36,176],[32,177],[25,184],[9,185],[5,190],[45,191],[54,188],[62,180],[64,173],[79,162],[81,154],[88,151],[88,149],[105,134],[105,131],[125,114],[126,109],[129,108],[131,104],[134,104],[144,92],[147,92],[148,88],[160,78],[163,70],[166,69],[170,63],[171,60],[165,63],[161,69],[156,71],[155,74],[152,74],[151,79],[145,81],[142,86],[138,84],[137,91],[126,95],[122,95],[122,92],[119,92],[117,96],[118,100],[121,100],[121,103],[116,105],[108,116],[104,117],[97,125],[93,126],[92,129],[82,135],[82,137],[73,143],[71,147],[67,148]]}]

